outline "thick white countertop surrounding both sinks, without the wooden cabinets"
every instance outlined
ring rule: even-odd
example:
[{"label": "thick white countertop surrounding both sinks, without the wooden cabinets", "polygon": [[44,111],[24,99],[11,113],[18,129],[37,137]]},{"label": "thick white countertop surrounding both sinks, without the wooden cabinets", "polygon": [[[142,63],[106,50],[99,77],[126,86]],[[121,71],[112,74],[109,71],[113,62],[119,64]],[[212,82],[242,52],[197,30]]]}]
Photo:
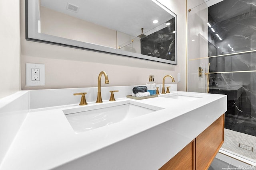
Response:
[{"label": "thick white countertop surrounding both sinks, without the wooden cabinets", "polygon": [[166,95],[176,94],[199,98],[116,98],[163,109],[82,133],[74,132],[62,110],[112,102],[30,109],[0,170],[158,169],[226,111],[225,95]]}]

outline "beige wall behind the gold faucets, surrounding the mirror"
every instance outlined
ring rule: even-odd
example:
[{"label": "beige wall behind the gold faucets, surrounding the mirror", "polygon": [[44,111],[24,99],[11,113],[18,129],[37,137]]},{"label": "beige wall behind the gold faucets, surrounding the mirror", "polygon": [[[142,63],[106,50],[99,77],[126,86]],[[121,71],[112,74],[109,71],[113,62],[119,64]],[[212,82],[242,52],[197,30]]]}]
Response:
[{"label": "beige wall behind the gold faucets, surrounding the mirror", "polygon": [[[162,78],[166,74],[171,74],[177,80],[177,73],[181,73],[178,90],[184,91],[186,85],[186,0],[161,0],[160,2],[178,16],[178,66],[26,41],[25,7],[24,1],[21,1],[22,90],[95,87],[97,86],[98,74],[104,70],[108,74],[110,84],[103,84],[102,86],[146,84],[149,75],[155,75],[157,83],[162,84]],[[45,86],[25,86],[25,63],[45,64]],[[166,82],[170,83],[171,80],[166,79]]]}]

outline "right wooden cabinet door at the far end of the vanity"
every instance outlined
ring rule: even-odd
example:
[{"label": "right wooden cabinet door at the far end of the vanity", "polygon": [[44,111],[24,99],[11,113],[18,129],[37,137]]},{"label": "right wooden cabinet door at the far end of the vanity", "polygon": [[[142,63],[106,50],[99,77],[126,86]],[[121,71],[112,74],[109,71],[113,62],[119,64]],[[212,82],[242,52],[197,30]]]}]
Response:
[{"label": "right wooden cabinet door at the far end of the vanity", "polygon": [[207,170],[224,143],[224,115],[196,137],[196,170]]}]

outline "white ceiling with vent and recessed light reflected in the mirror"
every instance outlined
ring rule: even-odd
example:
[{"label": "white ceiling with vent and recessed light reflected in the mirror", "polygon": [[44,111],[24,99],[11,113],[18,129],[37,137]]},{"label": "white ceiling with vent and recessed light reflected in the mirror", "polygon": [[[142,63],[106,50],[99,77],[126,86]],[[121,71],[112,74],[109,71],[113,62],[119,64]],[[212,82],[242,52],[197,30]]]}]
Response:
[{"label": "white ceiling with vent and recessed light reflected in the mirror", "polygon": [[[78,12],[67,10],[68,3],[79,6]],[[41,0],[41,5],[132,36],[173,18],[152,0]]]}]

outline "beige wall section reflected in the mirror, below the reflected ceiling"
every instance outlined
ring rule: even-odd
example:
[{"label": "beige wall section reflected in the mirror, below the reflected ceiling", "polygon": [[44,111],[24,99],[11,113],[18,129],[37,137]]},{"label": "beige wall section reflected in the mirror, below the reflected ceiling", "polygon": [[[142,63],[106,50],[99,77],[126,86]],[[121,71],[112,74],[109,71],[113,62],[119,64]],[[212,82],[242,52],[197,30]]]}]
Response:
[{"label": "beige wall section reflected in the mirror, below the reflected ceiling", "polygon": [[41,33],[116,49],[116,31],[41,6]]}]

